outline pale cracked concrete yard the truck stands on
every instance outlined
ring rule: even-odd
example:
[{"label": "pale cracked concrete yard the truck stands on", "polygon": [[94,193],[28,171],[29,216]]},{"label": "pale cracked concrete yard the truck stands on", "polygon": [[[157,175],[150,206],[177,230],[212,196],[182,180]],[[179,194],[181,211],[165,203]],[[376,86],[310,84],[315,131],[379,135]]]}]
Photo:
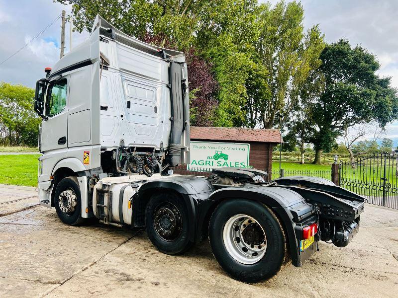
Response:
[{"label": "pale cracked concrete yard the truck stands on", "polygon": [[0,188],[1,297],[397,297],[398,211],[367,205],[348,247],[319,247],[301,268],[244,284],[207,241],[168,256],[142,230],[68,226],[35,192]]}]

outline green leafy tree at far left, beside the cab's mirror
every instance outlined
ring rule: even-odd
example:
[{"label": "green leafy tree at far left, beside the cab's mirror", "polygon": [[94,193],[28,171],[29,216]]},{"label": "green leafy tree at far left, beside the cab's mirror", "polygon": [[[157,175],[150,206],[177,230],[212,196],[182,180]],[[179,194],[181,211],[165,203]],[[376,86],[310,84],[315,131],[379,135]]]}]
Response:
[{"label": "green leafy tree at far left, beside the cab's mirror", "polygon": [[37,146],[41,118],[33,111],[34,90],[0,82],[0,144]]}]

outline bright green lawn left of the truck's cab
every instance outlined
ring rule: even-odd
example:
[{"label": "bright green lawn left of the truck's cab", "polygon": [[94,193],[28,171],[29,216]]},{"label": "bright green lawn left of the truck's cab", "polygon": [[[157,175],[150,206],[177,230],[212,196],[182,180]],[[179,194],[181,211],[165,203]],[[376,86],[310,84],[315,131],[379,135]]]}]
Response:
[{"label": "bright green lawn left of the truck's cab", "polygon": [[0,155],[0,184],[37,186],[40,154]]}]

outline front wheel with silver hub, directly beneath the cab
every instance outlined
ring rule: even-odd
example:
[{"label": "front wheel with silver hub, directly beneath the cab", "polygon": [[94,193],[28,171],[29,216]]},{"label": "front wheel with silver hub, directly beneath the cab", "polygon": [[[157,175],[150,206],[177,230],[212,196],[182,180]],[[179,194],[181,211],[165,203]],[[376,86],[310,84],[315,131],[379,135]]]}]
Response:
[{"label": "front wheel with silver hub, directly beneath the cab", "polygon": [[63,178],[58,183],[55,189],[54,205],[58,217],[64,224],[83,223],[80,187],[75,176]]}]

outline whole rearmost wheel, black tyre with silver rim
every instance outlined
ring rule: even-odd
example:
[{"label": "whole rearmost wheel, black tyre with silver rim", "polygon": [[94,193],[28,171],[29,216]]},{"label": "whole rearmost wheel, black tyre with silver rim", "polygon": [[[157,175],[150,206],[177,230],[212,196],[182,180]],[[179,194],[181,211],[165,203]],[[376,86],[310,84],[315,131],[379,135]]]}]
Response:
[{"label": "whole rearmost wheel, black tyre with silver rim", "polygon": [[242,282],[273,277],[287,258],[283,228],[275,214],[259,202],[222,202],[211,216],[209,240],[220,266]]}]

